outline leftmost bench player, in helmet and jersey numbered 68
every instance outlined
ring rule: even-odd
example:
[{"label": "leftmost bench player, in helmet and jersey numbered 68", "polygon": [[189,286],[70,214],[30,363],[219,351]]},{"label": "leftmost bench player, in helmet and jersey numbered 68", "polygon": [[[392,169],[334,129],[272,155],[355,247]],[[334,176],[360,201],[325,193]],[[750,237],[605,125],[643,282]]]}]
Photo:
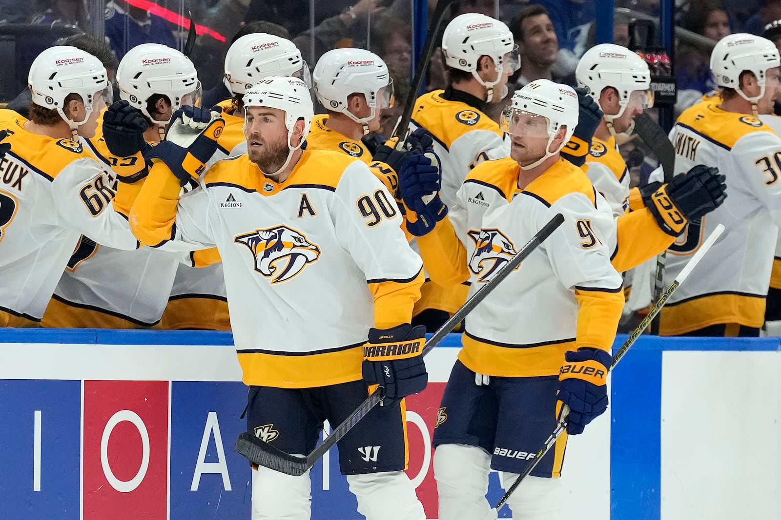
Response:
[{"label": "leftmost bench player, in helmet and jersey numbered 68", "polygon": [[11,150],[0,163],[0,325],[37,326],[81,234],[138,246],[112,204],[116,180],[86,138],[111,87],[98,58],[73,47],[41,52],[30,67],[30,120],[0,115]]}]

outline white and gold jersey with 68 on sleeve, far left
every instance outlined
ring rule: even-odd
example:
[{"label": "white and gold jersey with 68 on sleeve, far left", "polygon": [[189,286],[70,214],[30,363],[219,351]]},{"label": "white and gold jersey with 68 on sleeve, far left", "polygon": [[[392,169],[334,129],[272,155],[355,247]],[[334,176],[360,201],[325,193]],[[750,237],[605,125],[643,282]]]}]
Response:
[{"label": "white and gold jersey with 68 on sleeve, far left", "polygon": [[81,234],[116,249],[139,244],[114,210],[116,179],[84,138],[30,133],[27,119],[0,112],[11,145],[0,162],[0,325],[37,325]]}]

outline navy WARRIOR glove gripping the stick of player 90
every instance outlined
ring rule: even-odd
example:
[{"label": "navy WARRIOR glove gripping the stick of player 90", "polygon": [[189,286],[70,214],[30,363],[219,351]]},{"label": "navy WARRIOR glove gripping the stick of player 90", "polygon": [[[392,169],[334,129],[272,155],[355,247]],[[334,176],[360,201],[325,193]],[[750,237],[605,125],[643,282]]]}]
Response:
[{"label": "navy WARRIOR glove gripping the stick of player 90", "polygon": [[[389,329],[369,329],[369,343],[363,346],[363,380],[379,384],[383,395],[401,399],[426,388],[429,374],[423,363],[426,327],[401,324]],[[392,402],[383,401],[383,405]]]}]

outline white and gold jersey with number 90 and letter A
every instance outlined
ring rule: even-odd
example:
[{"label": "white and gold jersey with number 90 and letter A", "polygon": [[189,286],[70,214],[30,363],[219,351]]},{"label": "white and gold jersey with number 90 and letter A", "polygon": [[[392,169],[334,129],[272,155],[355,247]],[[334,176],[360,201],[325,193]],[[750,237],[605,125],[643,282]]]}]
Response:
[{"label": "white and gold jersey with number 90 and letter A", "polygon": [[304,150],[288,179],[228,157],[179,197],[152,168],[130,214],[160,249],[216,246],[244,383],[318,387],[359,380],[369,327],[408,323],[422,262],[391,195],[366,164]]}]

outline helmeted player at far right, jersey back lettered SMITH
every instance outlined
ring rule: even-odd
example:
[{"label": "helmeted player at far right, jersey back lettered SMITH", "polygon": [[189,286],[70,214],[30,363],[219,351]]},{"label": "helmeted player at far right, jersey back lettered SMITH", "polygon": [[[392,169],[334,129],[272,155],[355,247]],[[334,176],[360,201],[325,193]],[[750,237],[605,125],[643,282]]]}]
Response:
[{"label": "helmeted player at far right, jersey back lettered SMITH", "polygon": [[[758,119],[770,114],[779,87],[779,52],[765,38],[731,34],[716,44],[711,70],[720,104],[701,103],[680,115],[670,133],[676,172],[694,162],[727,172],[725,207],[690,222],[669,249],[665,284],[719,223],[726,232],[701,274],[686,281],[662,310],[661,334],[756,336],[765,315],[772,259],[781,224],[781,137]],[[716,259],[716,260],[713,260]]]}]

